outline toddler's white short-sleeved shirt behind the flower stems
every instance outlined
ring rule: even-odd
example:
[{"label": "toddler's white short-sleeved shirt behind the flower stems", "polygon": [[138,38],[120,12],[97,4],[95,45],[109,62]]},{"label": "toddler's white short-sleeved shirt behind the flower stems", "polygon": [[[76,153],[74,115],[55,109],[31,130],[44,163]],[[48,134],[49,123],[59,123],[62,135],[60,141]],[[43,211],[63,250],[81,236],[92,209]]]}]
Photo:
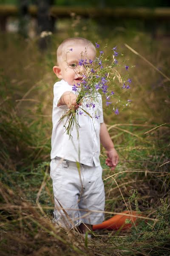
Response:
[{"label": "toddler's white short-sleeved shirt behind the flower stems", "polygon": [[[79,162],[87,166],[99,166],[100,155],[100,123],[103,122],[103,110],[102,110],[102,97],[98,93],[96,96],[95,107],[87,108],[86,101],[81,106],[87,111],[93,118],[88,116],[85,112],[82,115],[78,115],[79,123],[79,137],[77,137],[77,125],[74,125],[71,136],[65,132],[66,119],[59,119],[68,110],[66,105],[57,107],[59,99],[66,91],[72,91],[72,86],[65,82],[63,79],[54,84],[54,101],[52,111],[53,130],[51,137],[51,159],[55,157],[62,157],[66,160]],[[73,92],[73,91],[72,91]],[[80,108],[79,111],[83,112]],[[67,127],[67,125],[66,125]]]}]

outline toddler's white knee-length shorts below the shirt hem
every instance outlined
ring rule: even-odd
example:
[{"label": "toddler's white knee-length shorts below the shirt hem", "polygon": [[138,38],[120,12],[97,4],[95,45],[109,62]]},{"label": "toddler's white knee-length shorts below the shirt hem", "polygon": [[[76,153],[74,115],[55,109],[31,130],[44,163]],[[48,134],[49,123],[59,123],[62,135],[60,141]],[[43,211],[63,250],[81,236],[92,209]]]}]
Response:
[{"label": "toddler's white knee-length shorts below the shirt hem", "polygon": [[56,157],[51,160],[50,176],[53,181],[55,222],[70,229],[81,223],[94,225],[104,221],[104,213],[97,212],[105,209],[101,166],[79,164],[78,169],[77,163]]}]

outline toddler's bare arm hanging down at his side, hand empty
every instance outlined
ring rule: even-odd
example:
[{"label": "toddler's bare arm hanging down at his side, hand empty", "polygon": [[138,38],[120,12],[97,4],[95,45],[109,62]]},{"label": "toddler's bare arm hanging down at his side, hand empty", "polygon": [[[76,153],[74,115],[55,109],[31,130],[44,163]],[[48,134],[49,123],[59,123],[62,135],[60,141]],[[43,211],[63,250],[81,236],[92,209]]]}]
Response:
[{"label": "toddler's bare arm hanging down at his side, hand empty", "polygon": [[119,155],[117,154],[116,149],[114,148],[114,144],[111,140],[111,137],[108,133],[108,129],[104,122],[100,124],[100,142],[106,149],[106,153],[108,156],[105,163],[109,167],[111,167],[111,170],[114,170],[116,165],[118,164]]}]

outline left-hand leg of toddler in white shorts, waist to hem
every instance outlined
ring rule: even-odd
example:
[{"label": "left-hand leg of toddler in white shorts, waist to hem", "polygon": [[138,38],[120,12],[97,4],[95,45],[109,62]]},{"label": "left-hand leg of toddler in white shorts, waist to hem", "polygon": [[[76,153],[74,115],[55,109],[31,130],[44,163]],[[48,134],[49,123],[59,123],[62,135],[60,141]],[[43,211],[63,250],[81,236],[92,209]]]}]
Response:
[{"label": "left-hand leg of toddler in white shorts, waist to hem", "polygon": [[70,229],[81,221],[79,210],[71,210],[78,209],[81,183],[76,163],[67,162],[68,164],[64,160],[51,160],[50,175],[53,181],[55,221],[62,227]]}]

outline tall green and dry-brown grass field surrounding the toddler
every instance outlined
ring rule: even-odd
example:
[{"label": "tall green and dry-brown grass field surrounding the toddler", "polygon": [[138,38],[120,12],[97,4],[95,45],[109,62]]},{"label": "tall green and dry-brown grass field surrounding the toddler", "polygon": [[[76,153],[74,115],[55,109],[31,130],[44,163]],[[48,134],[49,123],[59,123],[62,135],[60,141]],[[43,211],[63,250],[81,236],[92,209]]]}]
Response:
[{"label": "tall green and dry-brown grass field surrounding the toddler", "polygon": [[[115,115],[103,104],[105,123],[120,157],[111,171],[101,150],[105,219],[127,209],[142,212],[144,218],[129,230],[95,231],[93,239],[52,223],[49,164],[57,81],[52,67],[57,46],[69,36],[86,37],[103,48],[107,44],[108,55],[117,46],[132,79],[129,94],[122,94],[132,100],[130,108]],[[58,22],[48,50],[39,49],[38,36],[26,39],[1,33],[1,38],[1,255],[170,255],[170,38],[155,38],[143,29],[80,22],[79,17]],[[123,75],[125,71],[120,69]]]}]

